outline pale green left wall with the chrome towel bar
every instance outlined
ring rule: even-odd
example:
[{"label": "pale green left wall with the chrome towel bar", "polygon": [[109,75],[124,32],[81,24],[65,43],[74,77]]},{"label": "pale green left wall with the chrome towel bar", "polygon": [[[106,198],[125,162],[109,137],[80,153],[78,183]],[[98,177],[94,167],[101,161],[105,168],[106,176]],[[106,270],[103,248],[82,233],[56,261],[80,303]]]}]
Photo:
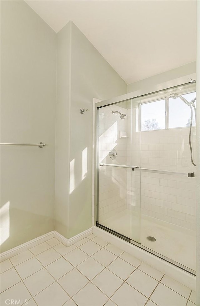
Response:
[{"label": "pale green left wall with the chrome towel bar", "polygon": [[56,33],[1,1],[1,252],[54,229]]}]

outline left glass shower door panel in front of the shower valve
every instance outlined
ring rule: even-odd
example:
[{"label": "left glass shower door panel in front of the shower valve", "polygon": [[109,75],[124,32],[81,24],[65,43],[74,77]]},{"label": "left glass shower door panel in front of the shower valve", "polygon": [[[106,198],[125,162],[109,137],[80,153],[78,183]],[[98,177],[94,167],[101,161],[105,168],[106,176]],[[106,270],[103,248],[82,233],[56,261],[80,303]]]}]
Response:
[{"label": "left glass shower door panel in front of the shower valve", "polygon": [[132,169],[123,166],[128,165],[127,148],[131,141],[130,108],[131,101],[122,101],[98,110],[98,223],[128,238],[131,193],[127,183],[130,186]]}]

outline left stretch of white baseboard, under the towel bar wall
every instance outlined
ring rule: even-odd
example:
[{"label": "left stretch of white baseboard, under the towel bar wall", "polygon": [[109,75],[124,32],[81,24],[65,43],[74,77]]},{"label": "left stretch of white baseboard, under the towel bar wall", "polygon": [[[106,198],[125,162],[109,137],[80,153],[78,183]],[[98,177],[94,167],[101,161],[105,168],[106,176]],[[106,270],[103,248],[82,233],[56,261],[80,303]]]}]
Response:
[{"label": "left stretch of white baseboard, under the towel bar wall", "polygon": [[0,262],[2,262],[3,260],[6,260],[6,259],[8,259],[12,256],[15,256],[19,253],[22,253],[22,252],[30,249],[33,246],[37,246],[38,244],[53,238],[54,235],[55,235],[54,231],[51,231],[51,232],[49,232],[47,234],[44,234],[42,236],[39,236],[35,239],[29,240],[29,241],[27,241],[27,242],[25,242],[25,243],[23,243],[19,246],[15,246],[12,249],[0,254]]}]

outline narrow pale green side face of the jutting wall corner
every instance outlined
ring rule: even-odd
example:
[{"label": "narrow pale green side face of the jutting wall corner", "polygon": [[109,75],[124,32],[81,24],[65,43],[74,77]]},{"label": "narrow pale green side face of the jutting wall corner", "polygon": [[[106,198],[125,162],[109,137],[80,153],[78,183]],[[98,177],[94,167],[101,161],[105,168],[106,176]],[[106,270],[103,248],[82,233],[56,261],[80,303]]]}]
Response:
[{"label": "narrow pale green side face of the jutting wall corner", "polygon": [[55,230],[67,237],[69,202],[69,131],[71,94],[71,23],[57,34],[55,147]]}]

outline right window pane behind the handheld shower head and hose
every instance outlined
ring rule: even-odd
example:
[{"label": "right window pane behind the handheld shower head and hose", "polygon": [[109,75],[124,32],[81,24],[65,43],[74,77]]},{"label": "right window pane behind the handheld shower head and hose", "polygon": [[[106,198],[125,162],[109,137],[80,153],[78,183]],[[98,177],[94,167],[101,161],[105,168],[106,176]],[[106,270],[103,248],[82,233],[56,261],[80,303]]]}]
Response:
[{"label": "right window pane behind the handheld shower head and hose", "polygon": [[[196,92],[181,95],[188,102],[195,98]],[[195,114],[193,111],[192,125],[195,125]],[[185,104],[180,98],[169,98],[169,127],[188,127],[190,126],[191,112],[190,107]]]}]

